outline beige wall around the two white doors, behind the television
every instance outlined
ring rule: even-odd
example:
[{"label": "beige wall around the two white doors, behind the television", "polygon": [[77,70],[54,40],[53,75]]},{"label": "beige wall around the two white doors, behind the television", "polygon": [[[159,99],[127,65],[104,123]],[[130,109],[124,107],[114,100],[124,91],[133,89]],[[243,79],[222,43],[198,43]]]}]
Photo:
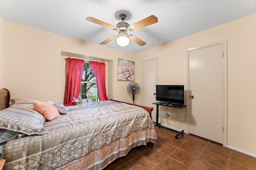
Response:
[{"label": "beige wall around the two white doors, behind the television", "polygon": [[[138,63],[138,58],[158,56],[158,84],[184,84],[188,89],[186,50],[225,39],[228,42],[228,146],[256,156],[256,14],[142,51],[134,59]],[[176,115],[175,110],[169,111]],[[169,123],[180,127],[179,119]],[[186,130],[185,123],[181,129]]]}]

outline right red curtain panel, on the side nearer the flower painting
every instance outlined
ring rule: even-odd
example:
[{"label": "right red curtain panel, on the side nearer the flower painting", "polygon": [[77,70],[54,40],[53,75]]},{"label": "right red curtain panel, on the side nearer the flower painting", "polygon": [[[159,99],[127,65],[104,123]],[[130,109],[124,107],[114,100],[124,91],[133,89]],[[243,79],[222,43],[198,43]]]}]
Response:
[{"label": "right red curtain panel, on the side nearer the flower painting", "polygon": [[108,100],[106,94],[106,66],[105,63],[89,61],[92,72],[96,78],[99,101]]}]

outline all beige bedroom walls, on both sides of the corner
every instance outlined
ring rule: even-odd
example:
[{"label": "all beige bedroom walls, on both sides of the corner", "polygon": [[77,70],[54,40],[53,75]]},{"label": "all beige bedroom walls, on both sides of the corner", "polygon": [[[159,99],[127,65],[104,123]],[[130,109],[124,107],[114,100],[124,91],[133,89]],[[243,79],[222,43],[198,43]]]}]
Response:
[{"label": "all beige bedroom walls, on both sides of the corner", "polygon": [[[228,146],[256,155],[256,14],[189,35],[137,54],[106,48],[49,33],[24,25],[2,21],[4,43],[2,86],[11,98],[30,98],[62,102],[64,95],[65,56],[61,51],[110,60],[108,96],[132,102],[126,91],[129,82],[116,80],[117,58],[135,61],[135,81],[141,83],[140,63],[158,57],[158,84],[184,84],[187,89],[186,50],[228,40]],[[0,29],[1,31],[1,29]],[[0,32],[0,37],[2,33]],[[1,40],[2,38],[0,38]],[[1,63],[0,63],[1,64]],[[1,83],[0,83],[1,86]],[[61,88],[60,88],[61,87]],[[140,104],[140,93],[136,96]],[[163,110],[162,110],[163,111]],[[170,112],[175,112],[170,109]],[[180,114],[185,114],[183,111]],[[162,117],[160,117],[160,121]],[[173,119],[173,127],[180,121]],[[180,129],[186,130],[182,123]]]}]

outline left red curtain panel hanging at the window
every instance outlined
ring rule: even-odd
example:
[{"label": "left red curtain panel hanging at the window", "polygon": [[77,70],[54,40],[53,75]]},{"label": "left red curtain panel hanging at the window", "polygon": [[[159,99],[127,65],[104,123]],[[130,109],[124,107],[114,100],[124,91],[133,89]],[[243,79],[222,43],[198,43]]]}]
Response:
[{"label": "left red curtain panel hanging at the window", "polygon": [[65,106],[75,105],[72,103],[73,98],[78,98],[84,68],[84,60],[68,58],[67,59],[67,80],[65,92]]}]

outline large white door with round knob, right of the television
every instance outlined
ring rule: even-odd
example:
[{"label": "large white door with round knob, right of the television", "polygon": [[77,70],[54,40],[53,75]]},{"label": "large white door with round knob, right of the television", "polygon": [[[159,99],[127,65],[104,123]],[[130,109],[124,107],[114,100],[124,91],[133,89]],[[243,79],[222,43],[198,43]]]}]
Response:
[{"label": "large white door with round knob, right of the television", "polygon": [[189,132],[223,144],[223,45],[189,51]]}]

